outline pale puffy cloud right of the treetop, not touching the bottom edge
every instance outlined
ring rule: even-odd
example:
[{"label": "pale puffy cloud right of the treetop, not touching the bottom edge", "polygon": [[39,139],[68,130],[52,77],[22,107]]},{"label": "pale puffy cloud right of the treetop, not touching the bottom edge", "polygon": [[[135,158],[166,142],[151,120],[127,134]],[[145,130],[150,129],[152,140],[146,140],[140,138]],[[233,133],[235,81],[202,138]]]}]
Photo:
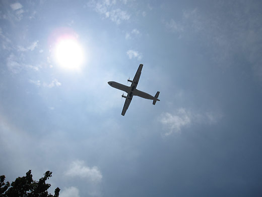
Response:
[{"label": "pale puffy cloud right of the treetop, not touching the bottom edge", "polygon": [[87,180],[91,182],[100,182],[103,177],[96,166],[90,168],[84,165],[84,161],[79,160],[72,162],[69,170],[65,172],[65,175],[87,178]]}]

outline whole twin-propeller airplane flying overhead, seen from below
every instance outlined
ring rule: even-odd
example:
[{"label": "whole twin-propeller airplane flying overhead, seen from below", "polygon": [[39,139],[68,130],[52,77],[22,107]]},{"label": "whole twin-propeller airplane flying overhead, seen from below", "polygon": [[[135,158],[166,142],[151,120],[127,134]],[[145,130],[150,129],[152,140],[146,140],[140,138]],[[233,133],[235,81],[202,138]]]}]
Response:
[{"label": "whole twin-propeller airplane flying overhead, seen from below", "polygon": [[127,79],[127,83],[128,82],[132,83],[130,86],[123,85],[123,84],[117,83],[115,81],[108,81],[108,84],[110,86],[112,86],[116,89],[120,89],[122,91],[125,91],[127,93],[127,96],[122,94],[122,97],[125,98],[124,107],[123,107],[123,110],[122,110],[122,113],[121,113],[122,116],[124,116],[126,110],[128,109],[128,107],[129,107],[129,105],[132,101],[133,96],[140,96],[142,98],[153,100],[153,105],[155,105],[157,101],[160,101],[158,99],[158,96],[159,96],[159,93],[160,93],[159,91],[156,93],[155,96],[152,96],[152,95],[150,95],[146,92],[143,92],[143,91],[140,91],[140,90],[137,89],[137,85],[138,85],[138,81],[139,81],[139,78],[140,78],[140,75],[141,75],[142,68],[143,68],[143,64],[140,64],[134,79],[133,80]]}]

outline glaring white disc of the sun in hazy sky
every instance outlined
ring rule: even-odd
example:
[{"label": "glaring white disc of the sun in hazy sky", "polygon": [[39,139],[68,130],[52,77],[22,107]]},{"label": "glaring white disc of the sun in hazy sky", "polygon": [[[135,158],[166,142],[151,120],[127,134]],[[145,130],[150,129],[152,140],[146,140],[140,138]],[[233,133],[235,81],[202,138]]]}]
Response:
[{"label": "glaring white disc of the sun in hazy sky", "polygon": [[84,63],[84,52],[75,38],[63,38],[57,41],[55,59],[64,69],[79,70]]}]

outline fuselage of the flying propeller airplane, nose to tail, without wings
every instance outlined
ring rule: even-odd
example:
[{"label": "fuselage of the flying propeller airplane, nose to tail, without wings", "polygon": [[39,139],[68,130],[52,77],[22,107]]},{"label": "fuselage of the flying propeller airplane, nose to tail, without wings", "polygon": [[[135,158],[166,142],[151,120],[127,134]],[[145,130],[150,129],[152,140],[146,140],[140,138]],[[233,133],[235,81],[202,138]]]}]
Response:
[{"label": "fuselage of the flying propeller airplane, nose to tail, without wings", "polygon": [[115,81],[108,81],[108,84],[116,89],[120,89],[122,91],[125,91],[129,97],[132,97],[132,96],[140,96],[142,98],[146,98],[146,99],[149,99],[149,100],[153,100],[153,101],[159,101],[158,98],[144,92],[144,91],[140,91],[138,90],[136,87],[137,87],[137,84],[135,83],[132,83],[131,86],[127,86],[127,85],[123,85],[121,83],[117,83]]}]

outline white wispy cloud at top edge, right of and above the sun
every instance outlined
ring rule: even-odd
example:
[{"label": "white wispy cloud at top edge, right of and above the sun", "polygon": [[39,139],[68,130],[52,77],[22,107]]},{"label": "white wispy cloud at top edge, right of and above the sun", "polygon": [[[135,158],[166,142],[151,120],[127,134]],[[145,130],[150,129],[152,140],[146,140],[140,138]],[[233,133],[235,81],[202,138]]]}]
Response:
[{"label": "white wispy cloud at top edge, right of and above the sun", "polygon": [[[126,4],[127,1],[123,1]],[[111,21],[119,25],[122,21],[128,20],[130,15],[119,8],[116,4],[116,0],[103,0],[103,1],[90,1],[89,7],[92,7],[97,13],[103,15],[105,18],[109,18]]]}]

